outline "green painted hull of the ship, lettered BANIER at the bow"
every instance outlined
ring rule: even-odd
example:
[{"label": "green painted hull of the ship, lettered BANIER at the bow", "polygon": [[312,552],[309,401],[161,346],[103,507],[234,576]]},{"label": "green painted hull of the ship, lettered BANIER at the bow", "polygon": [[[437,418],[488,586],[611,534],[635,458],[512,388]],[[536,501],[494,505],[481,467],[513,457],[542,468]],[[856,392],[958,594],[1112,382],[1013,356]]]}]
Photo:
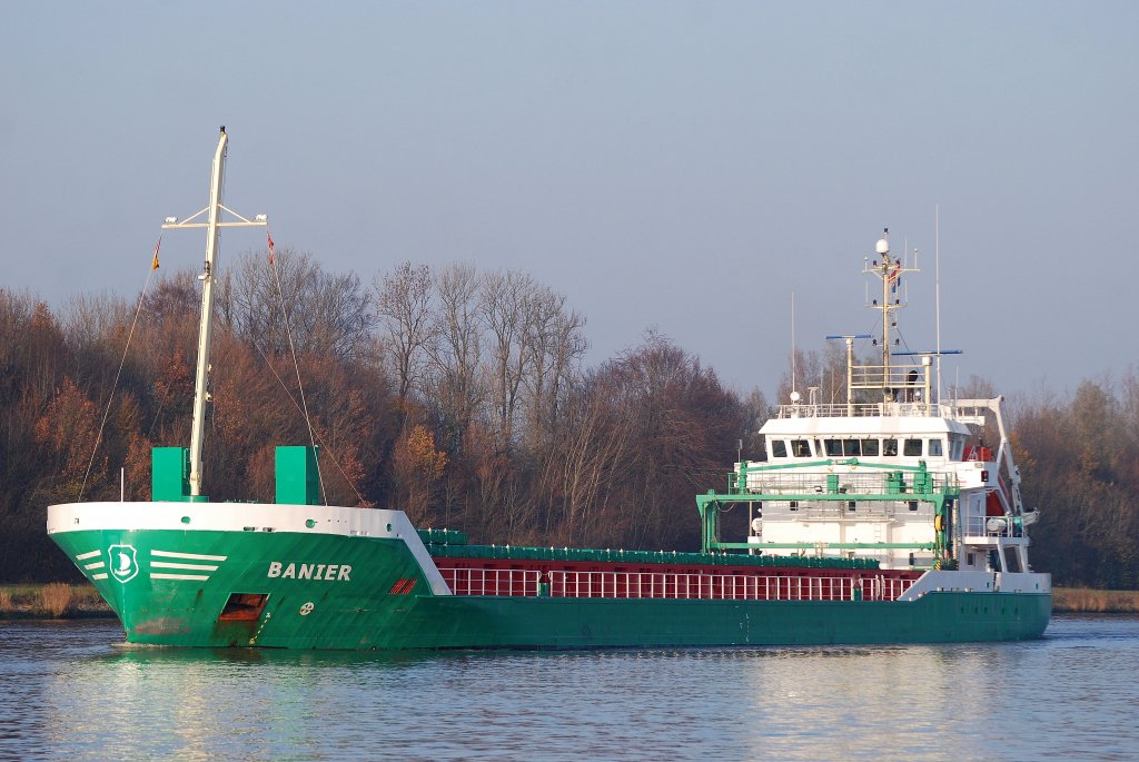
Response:
[{"label": "green painted hull of the ship, lettered BANIER at the bow", "polygon": [[[1021,640],[1040,637],[1051,609],[1049,592],[931,591],[915,600],[439,595],[429,579],[437,571],[425,568],[405,538],[151,529],[56,531],[52,538],[118,614],[126,640],[156,646],[607,648]],[[261,607],[227,617],[235,596],[257,596]]]}]

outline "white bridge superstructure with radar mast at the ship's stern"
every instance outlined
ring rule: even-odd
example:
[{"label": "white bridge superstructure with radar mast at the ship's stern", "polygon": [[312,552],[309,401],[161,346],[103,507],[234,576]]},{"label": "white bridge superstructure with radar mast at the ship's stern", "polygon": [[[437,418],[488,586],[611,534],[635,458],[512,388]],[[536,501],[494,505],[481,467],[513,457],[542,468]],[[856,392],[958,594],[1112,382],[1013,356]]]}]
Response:
[{"label": "white bridge superstructure with radar mast at the ship's stern", "polygon": [[891,353],[898,278],[912,270],[885,238],[876,253],[867,271],[882,279],[871,304],[883,312],[880,364],[854,359],[853,341],[869,336],[830,337],[846,342],[846,401],[793,393],[760,429],[765,460],[737,464],[734,485],[757,498],[748,547],[883,568],[1029,572],[1025,527],[1036,514],[1021,501],[1002,398],[934,401],[939,353]]}]

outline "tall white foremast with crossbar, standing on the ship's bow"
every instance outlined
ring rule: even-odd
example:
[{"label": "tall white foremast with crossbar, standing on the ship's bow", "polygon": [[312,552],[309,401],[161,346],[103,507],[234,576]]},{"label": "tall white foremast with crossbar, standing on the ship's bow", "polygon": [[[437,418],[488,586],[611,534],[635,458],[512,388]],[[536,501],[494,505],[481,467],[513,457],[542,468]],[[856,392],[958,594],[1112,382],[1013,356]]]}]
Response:
[{"label": "tall white foremast with crossbar, standing on the ship's bow", "polygon": [[[179,222],[178,218],[166,218],[163,229],[180,228],[205,228],[206,229],[206,259],[202,275],[202,318],[198,325],[198,362],[194,376],[194,425],[190,429],[190,495],[191,499],[202,495],[202,439],[205,427],[206,403],[211,400],[208,391],[210,380],[210,345],[213,341],[213,303],[214,303],[214,279],[218,275],[218,243],[221,236],[221,228],[245,228],[249,226],[264,227],[269,224],[264,214],[256,215],[253,220],[247,220],[237,212],[226,208],[222,205],[222,188],[226,178],[226,147],[229,144],[229,136],[222,125],[221,136],[218,139],[218,150],[214,153],[213,172],[210,177],[210,206],[200,212]],[[229,212],[238,219],[237,222],[222,222],[221,213]],[[192,222],[197,218],[206,215],[206,222]]]}]

